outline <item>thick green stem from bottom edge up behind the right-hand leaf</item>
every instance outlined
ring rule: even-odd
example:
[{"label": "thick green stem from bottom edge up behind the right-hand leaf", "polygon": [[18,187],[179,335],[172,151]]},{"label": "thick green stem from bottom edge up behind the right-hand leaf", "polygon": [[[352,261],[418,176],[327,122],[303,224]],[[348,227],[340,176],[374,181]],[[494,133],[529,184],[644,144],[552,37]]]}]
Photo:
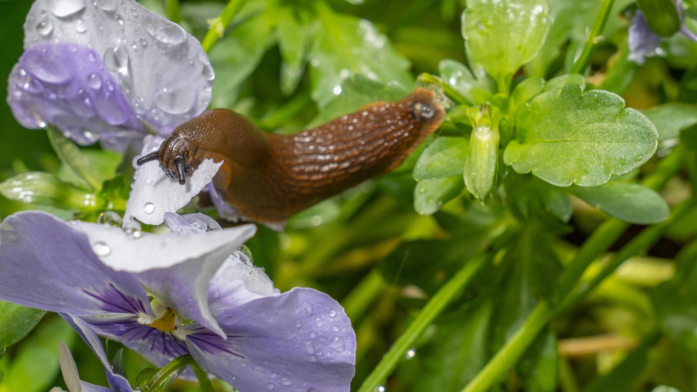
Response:
[{"label": "thick green stem from bottom edge up behind the right-hand leaf", "polygon": [[[642,183],[643,185],[650,187],[652,189],[659,189],[665,184],[668,179],[670,179],[675,172],[677,172],[682,166],[682,150],[676,148],[673,150],[671,155],[664,157],[657,164],[653,173],[645,178]],[[680,211],[678,211],[680,212]],[[673,217],[676,215],[673,214]],[[622,230],[618,230],[620,226],[624,226],[623,222],[619,222],[617,219],[608,219],[604,224],[602,224],[596,232],[600,232],[604,235],[611,236],[611,238],[601,237],[600,235],[591,235],[588,240],[581,246],[579,252],[576,253],[576,257],[572,262],[569,263],[567,271],[562,274],[562,282],[567,285],[566,287],[574,287],[576,283],[581,279],[585,268],[590,265],[590,263],[600,256],[606,249],[608,249],[609,244],[615,242],[618,237],[622,234]],[[661,226],[666,228],[667,226]],[[632,247],[636,249],[636,244]],[[620,250],[622,252],[622,250]],[[623,255],[627,255],[629,252],[623,252]],[[629,255],[631,256],[631,255]],[[562,286],[563,288],[564,286]],[[585,290],[581,291],[583,295],[588,292]],[[563,293],[563,292],[562,292]],[[562,301],[563,304],[568,304],[571,301],[576,301],[582,297],[576,297],[576,292],[572,292],[566,295],[566,298]],[[571,298],[570,298],[571,297]],[[523,322],[523,325],[516,331],[516,333],[508,340],[503,347],[493,356],[493,358],[484,366],[484,369],[480,371],[479,374],[463,389],[463,392],[484,392],[491,389],[493,384],[498,382],[504,373],[510,369],[520,356],[525,352],[528,346],[533,343],[539,331],[542,331],[544,326],[552,319],[553,315],[556,314],[555,309],[551,307],[551,304],[547,301],[541,301],[533,313],[528,316],[528,318]]]}]

